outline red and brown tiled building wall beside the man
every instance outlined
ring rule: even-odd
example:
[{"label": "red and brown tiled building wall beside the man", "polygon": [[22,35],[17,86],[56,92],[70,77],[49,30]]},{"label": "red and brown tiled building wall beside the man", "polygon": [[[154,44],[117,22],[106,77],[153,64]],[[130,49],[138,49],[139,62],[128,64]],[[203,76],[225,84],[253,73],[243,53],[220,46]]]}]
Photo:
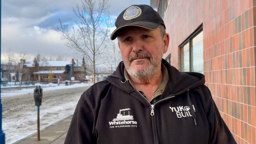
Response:
[{"label": "red and brown tiled building wall beside the man", "polygon": [[206,85],[237,143],[256,144],[256,0],[170,0],[164,16],[171,64],[203,24]]}]

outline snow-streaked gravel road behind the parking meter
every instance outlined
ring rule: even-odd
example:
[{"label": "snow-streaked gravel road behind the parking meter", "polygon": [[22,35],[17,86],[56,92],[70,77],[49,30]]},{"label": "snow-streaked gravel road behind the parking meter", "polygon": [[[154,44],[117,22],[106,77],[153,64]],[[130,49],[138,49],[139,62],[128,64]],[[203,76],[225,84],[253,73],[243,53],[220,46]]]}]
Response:
[{"label": "snow-streaked gravel road behind the parking meter", "polygon": [[[40,110],[40,129],[74,113],[80,95],[90,86],[43,91]],[[2,129],[6,143],[13,143],[37,132],[37,106],[33,92],[2,97]],[[20,138],[17,138],[19,136]]]}]

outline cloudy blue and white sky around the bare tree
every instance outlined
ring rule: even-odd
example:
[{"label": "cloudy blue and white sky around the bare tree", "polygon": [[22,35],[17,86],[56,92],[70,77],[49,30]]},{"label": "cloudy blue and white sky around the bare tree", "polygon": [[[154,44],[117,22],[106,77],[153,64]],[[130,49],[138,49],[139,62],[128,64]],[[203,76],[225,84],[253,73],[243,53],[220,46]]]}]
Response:
[{"label": "cloudy blue and white sky around the bare tree", "polygon": [[[96,0],[97,3],[98,0]],[[113,17],[133,4],[150,5],[150,0],[109,0],[109,12]],[[73,51],[61,40],[57,30],[62,23],[74,23],[73,8],[81,0],[4,0],[1,2],[1,61],[8,59],[7,53],[26,53],[28,60],[37,54],[45,57],[58,56],[71,60]],[[69,25],[71,27],[71,25]]]}]

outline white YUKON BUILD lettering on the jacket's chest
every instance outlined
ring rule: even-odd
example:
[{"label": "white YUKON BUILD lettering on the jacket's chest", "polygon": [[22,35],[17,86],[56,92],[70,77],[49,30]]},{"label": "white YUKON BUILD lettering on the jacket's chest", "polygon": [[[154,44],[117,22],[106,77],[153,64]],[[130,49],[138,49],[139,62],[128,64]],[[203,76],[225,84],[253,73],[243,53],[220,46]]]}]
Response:
[{"label": "white YUKON BUILD lettering on the jacket's chest", "polygon": [[[192,106],[194,111],[196,112],[194,105]],[[176,113],[178,118],[192,116],[189,111],[190,108],[188,106],[169,107],[169,108],[172,110],[173,113]]]}]

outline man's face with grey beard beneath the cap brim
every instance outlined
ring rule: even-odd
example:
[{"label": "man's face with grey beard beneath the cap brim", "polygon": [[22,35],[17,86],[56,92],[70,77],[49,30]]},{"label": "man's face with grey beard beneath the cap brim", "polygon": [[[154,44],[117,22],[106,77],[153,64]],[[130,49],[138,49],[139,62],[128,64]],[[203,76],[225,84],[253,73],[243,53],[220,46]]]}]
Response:
[{"label": "man's face with grey beard beneath the cap brim", "polygon": [[161,69],[163,53],[167,51],[169,37],[162,39],[159,29],[147,30],[140,27],[128,27],[118,35],[127,72],[138,79],[145,79]]}]

